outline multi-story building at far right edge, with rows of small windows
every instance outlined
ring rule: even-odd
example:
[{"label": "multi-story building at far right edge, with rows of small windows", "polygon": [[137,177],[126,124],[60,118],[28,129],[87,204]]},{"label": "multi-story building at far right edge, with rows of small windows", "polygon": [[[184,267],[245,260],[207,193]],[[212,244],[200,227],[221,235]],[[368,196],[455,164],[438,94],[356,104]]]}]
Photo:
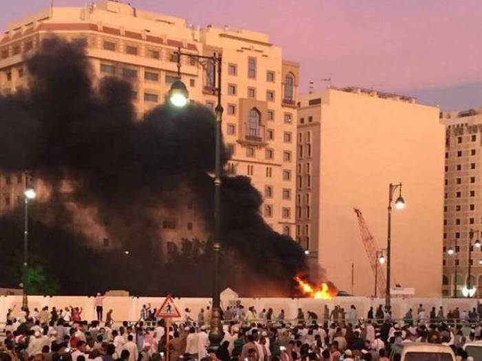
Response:
[{"label": "multi-story building at far right edge, with rows of small windows", "polygon": [[470,285],[480,295],[482,252],[474,243],[482,236],[482,107],[440,113],[440,120],[446,127],[443,296],[462,296],[469,263]]}]

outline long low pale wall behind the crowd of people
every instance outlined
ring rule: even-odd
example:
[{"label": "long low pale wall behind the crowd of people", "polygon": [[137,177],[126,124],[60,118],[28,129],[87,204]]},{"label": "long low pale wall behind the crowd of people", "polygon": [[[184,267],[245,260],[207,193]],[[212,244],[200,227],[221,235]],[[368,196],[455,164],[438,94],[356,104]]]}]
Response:
[{"label": "long low pale wall behind the crowd of people", "polygon": [[[138,320],[140,316],[140,309],[143,305],[150,304],[152,308],[159,308],[163,303],[164,297],[135,297],[135,296],[107,296],[104,300],[104,314],[109,310],[113,310],[113,318],[116,322],[123,320]],[[198,312],[201,308],[211,305],[211,298],[174,298],[176,306],[181,315],[184,315],[184,309],[188,307],[191,309],[191,317],[197,319]],[[368,309],[373,306],[374,309],[378,305],[384,305],[384,298],[370,298],[370,297],[337,297],[333,300],[315,300],[313,298],[238,298],[234,295],[222,296],[222,307],[233,305],[236,300],[240,300],[241,304],[247,309],[254,306],[259,312],[262,309],[273,308],[274,316],[279,314],[281,309],[285,311],[286,319],[294,319],[297,315],[297,309],[301,308],[303,311],[313,311],[319,318],[323,317],[324,305],[332,310],[335,305],[340,305],[348,311],[350,305],[357,307],[357,316],[359,318],[366,318]],[[16,307],[14,314],[20,309],[22,303],[22,296],[0,296],[0,320],[4,322],[4,317],[8,309]],[[392,309],[394,318],[403,318],[408,309],[412,308],[417,312],[419,304],[428,313],[431,307],[436,307],[437,310],[443,306],[447,314],[449,309],[459,307],[461,311],[468,311],[472,307],[476,307],[477,299],[475,298],[392,298]],[[57,307],[82,307],[82,319],[95,319],[94,297],[89,296],[29,296],[28,304],[30,309],[35,307],[48,306],[49,309]]]}]

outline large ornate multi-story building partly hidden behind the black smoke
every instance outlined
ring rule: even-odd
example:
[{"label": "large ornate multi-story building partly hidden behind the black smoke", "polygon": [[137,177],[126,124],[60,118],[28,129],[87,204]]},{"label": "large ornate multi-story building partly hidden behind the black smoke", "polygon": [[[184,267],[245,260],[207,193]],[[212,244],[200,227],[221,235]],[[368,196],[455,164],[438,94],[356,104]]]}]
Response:
[{"label": "large ornate multi-story building partly hidden behind the black smoke", "polygon": [[[50,8],[8,25],[1,37],[3,94],[25,86],[25,56],[35,52],[50,34],[84,41],[96,78],[115,75],[132,83],[139,114],[165,101],[177,77],[178,48],[191,54],[222,54],[222,131],[232,154],[228,171],[251,177],[264,195],[266,222],[278,232],[294,233],[298,65],[284,61],[282,50],[267,34],[195,28],[184,19],[120,1]],[[180,72],[190,98],[213,108],[216,98],[209,63],[183,56]],[[12,177],[0,176],[0,210],[11,208],[14,199],[21,197],[21,189],[12,187]],[[167,225],[163,227],[169,239],[198,237],[196,216],[182,214],[188,214],[182,224],[176,219],[161,221]],[[180,228],[186,229],[181,232]]]}]

